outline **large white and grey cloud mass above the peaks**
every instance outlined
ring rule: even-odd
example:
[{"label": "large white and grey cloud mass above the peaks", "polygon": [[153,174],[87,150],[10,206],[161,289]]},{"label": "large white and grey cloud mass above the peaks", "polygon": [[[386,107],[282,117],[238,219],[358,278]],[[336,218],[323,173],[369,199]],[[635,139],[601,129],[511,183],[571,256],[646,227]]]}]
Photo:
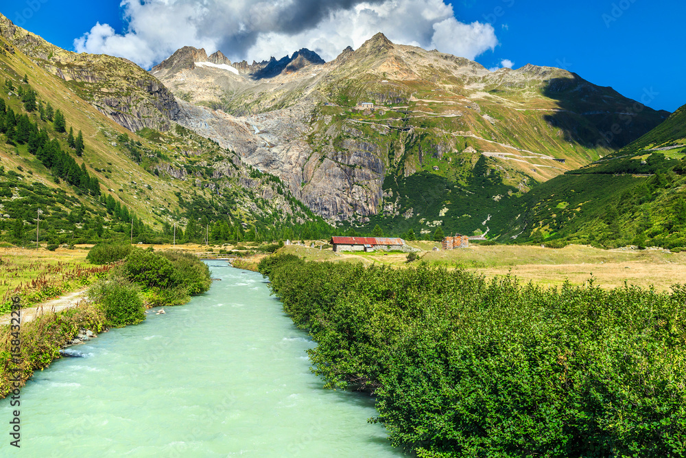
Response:
[{"label": "large white and grey cloud mass above the peaks", "polygon": [[182,46],[231,60],[280,58],[307,47],[331,60],[377,32],[394,43],[473,59],[498,44],[490,24],[461,23],[444,0],[122,0],[128,30],[97,23],[77,51],[150,67]]}]

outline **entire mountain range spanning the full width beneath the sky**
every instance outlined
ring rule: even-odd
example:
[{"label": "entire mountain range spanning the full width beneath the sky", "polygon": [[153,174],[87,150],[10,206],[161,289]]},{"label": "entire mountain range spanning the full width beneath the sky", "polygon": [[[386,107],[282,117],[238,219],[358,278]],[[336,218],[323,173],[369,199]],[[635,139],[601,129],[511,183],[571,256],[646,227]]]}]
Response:
[{"label": "entire mountain range spanning the full width beneath the sky", "polygon": [[[102,191],[160,230],[202,217],[233,233],[287,225],[364,233],[378,224],[396,234],[442,227],[571,240],[583,232],[567,230],[573,202],[542,210],[556,183],[595,176],[593,189],[607,198],[623,186],[610,177],[653,176],[657,162],[658,173],[674,174],[682,153],[649,151],[678,146],[681,109],[655,111],[564,69],[489,71],[380,33],[330,62],[308,49],[248,64],[182,47],[150,71],[65,51],[2,15],[0,45],[5,80],[60,108],[83,131],[78,160]],[[19,111],[16,93],[7,102]],[[29,118],[52,128],[38,113]],[[44,185],[73,192],[21,144],[0,156],[5,169],[30,167]],[[635,161],[645,170],[615,168]],[[94,196],[78,200],[102,213]],[[590,202],[584,210],[597,207]]]}]

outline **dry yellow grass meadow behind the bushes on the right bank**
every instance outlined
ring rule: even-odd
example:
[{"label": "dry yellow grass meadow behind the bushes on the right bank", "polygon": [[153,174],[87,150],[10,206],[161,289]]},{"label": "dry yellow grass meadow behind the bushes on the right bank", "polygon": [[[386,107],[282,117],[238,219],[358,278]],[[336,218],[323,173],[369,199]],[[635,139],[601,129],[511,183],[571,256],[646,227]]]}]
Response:
[{"label": "dry yellow grass meadow behind the bushes on the right bank", "polygon": [[[431,251],[440,247],[435,242],[410,242],[423,249],[419,260],[444,264],[448,268],[465,268],[487,278],[512,275],[523,282],[543,286],[560,286],[565,281],[582,285],[593,278],[597,286],[614,288],[629,285],[657,290],[669,290],[672,284],[686,278],[686,253],[670,253],[661,249],[602,250],[588,246],[569,245],[563,249],[549,249],[523,245],[496,245],[453,251]],[[386,264],[392,267],[410,266],[405,253],[333,253],[305,247],[285,247],[307,260],[331,260]]]}]

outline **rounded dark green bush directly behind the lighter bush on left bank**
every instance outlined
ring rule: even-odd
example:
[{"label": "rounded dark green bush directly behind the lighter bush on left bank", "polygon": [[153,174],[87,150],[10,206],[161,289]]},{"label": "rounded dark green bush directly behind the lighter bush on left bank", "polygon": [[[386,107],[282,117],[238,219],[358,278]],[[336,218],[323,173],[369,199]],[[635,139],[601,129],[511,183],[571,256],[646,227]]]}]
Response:
[{"label": "rounded dark green bush directly behind the lighter bush on left bank", "polygon": [[174,264],[153,251],[133,249],[126,257],[123,270],[131,282],[142,288],[176,288],[182,282]]}]

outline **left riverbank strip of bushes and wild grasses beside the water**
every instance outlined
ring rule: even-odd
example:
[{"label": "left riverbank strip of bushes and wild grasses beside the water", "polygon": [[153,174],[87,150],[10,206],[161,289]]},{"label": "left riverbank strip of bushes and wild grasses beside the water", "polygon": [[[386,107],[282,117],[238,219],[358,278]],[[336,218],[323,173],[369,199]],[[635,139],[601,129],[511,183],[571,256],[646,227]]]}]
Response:
[{"label": "left riverbank strip of bushes and wild grasses beside the water", "polygon": [[[36,308],[29,321],[12,310],[10,324],[0,326],[0,398],[23,387],[34,371],[60,358],[62,347],[73,343],[80,333],[99,334],[106,328],[140,323],[145,319],[144,303],[184,304],[211,285],[209,268],[187,253],[134,249],[123,263],[106,270],[107,277],[88,288],[88,300],[72,308],[46,314]],[[21,298],[18,302],[21,304]]]}]

